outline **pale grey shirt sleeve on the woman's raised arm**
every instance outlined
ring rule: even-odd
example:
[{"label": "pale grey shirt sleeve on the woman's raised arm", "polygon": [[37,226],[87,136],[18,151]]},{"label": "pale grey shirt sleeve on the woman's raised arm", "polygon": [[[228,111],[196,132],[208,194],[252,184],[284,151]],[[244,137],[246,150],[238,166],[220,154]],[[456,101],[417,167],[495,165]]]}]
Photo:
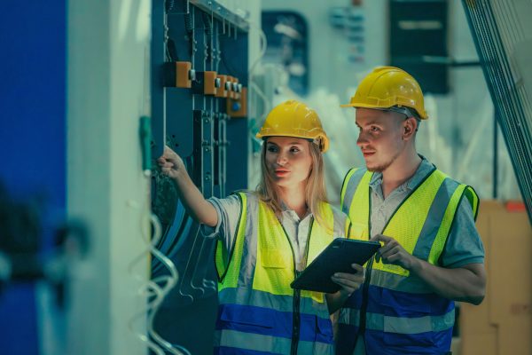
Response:
[{"label": "pale grey shirt sleeve on the woman's raised arm", "polygon": [[212,204],[218,215],[215,227],[201,225],[201,233],[205,238],[216,238],[223,241],[225,248],[231,250],[239,223],[242,202],[236,194],[231,194],[224,199],[211,197],[207,201]]}]

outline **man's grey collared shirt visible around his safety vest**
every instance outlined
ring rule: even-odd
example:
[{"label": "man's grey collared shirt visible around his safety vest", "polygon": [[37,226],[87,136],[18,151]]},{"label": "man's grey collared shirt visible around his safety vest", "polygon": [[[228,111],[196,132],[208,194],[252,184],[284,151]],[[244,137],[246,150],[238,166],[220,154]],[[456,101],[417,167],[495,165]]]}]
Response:
[{"label": "man's grey collared shirt visible around his safety vest", "polygon": [[[374,173],[370,181],[372,188],[372,230],[371,236],[382,232],[387,220],[392,217],[395,209],[408,196],[416,185],[419,185],[434,165],[425,157],[418,170],[403,185],[398,186],[386,199],[382,193],[382,173]],[[484,247],[481,237],[474,225],[473,211],[469,200],[462,199],[450,229],[449,238],[441,257],[441,265],[457,268],[465,264],[484,262]]]}]

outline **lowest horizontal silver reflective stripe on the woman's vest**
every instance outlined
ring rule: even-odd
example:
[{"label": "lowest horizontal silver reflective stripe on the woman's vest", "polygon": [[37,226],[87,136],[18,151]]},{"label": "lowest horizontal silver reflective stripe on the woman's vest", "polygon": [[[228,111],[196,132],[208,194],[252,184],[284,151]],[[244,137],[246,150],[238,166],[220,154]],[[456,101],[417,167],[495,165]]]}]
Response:
[{"label": "lowest horizontal silver reflective stripe on the woman's vest", "polygon": [[[240,333],[235,330],[218,330],[215,332],[217,346],[225,346],[236,349],[252,351],[265,351],[278,354],[286,354],[290,351],[292,339],[279,338],[270,335],[252,333]],[[298,343],[298,354],[329,355],[333,353],[332,344],[302,342]]]}]

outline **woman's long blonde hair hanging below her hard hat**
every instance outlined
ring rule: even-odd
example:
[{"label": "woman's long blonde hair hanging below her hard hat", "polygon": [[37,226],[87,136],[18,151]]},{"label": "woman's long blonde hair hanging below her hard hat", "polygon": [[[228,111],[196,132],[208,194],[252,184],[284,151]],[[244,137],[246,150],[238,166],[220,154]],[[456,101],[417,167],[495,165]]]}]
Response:
[{"label": "woman's long blonde hair hanging below her hard hat", "polygon": [[[261,153],[261,182],[257,185],[256,193],[270,208],[274,211],[276,216],[280,217],[283,211],[281,198],[278,194],[278,188],[268,174],[268,167],[266,165],[266,141],[262,145]],[[327,225],[321,209],[322,203],[328,202],[327,191],[325,188],[325,169],[324,158],[319,150],[319,146],[309,142],[309,152],[312,158],[312,167],[307,177],[307,185],[305,185],[305,202],[307,207],[316,218],[317,223],[326,228],[332,228],[332,225]]]}]

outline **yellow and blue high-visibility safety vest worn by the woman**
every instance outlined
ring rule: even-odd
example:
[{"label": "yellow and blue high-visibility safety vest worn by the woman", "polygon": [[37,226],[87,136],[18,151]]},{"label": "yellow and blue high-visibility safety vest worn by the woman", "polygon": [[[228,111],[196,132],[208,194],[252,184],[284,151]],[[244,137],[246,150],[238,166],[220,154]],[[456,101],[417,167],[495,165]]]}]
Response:
[{"label": "yellow and blue high-visibility safety vest worn by the woman", "polygon": [[[222,241],[216,245],[215,354],[332,354],[325,295],[290,287],[297,273],[293,246],[278,217],[256,196],[238,196],[241,211],[231,254]],[[308,264],[333,240],[331,206],[324,203],[322,210],[331,228],[311,221]]]}]

